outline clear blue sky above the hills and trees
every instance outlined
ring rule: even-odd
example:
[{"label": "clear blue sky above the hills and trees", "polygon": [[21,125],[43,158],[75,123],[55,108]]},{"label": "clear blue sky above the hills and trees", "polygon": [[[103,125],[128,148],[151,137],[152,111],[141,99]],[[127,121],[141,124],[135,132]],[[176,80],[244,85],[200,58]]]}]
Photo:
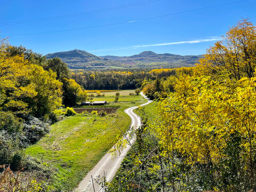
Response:
[{"label": "clear blue sky above the hills and trees", "polygon": [[1,37],[42,54],[204,54],[238,20],[256,24],[255,0],[1,0],[1,7]]}]

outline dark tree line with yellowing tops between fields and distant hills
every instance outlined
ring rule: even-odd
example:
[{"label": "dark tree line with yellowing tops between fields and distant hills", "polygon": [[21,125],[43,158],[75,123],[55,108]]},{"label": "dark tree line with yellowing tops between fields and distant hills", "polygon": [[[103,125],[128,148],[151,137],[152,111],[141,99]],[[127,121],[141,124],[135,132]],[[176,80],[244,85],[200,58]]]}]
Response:
[{"label": "dark tree line with yellowing tops between fields and distant hills", "polygon": [[175,69],[141,69],[125,71],[90,71],[73,70],[71,78],[87,90],[128,90],[140,88],[145,81],[168,77],[175,74]]}]

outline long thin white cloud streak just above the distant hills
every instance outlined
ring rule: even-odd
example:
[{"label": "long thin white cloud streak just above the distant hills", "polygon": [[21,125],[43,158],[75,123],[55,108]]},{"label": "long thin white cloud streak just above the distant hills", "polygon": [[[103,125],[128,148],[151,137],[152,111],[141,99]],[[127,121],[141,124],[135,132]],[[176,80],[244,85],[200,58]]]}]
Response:
[{"label": "long thin white cloud streak just above the distant hills", "polygon": [[158,44],[149,44],[149,45],[134,45],[134,46],[129,46],[129,47],[120,47],[120,48],[113,48],[113,49],[93,50],[93,51],[89,51],[89,52],[116,51],[116,50],[124,50],[124,49],[137,49],[139,47],[177,45],[177,44],[185,44],[185,43],[190,43],[191,44],[191,43],[219,41],[220,39],[221,39],[221,37],[213,37],[213,38],[206,38],[206,39],[196,39],[196,40],[191,40],[191,41],[180,41],[180,42],[171,42],[171,43],[158,43]]}]

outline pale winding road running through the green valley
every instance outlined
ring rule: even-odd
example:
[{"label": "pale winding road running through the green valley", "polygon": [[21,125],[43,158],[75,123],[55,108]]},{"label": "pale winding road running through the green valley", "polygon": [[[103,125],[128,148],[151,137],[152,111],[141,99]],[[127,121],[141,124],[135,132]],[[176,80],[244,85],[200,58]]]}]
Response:
[{"label": "pale winding road running through the green valley", "polygon": [[[148,105],[149,103],[152,102],[152,100],[148,99],[145,94],[140,92],[140,94],[148,100],[148,102],[143,103],[140,106],[145,106]],[[124,112],[129,115],[132,119],[132,124],[131,127],[134,129],[138,129],[140,126],[140,117],[133,113],[133,110],[138,108],[138,106],[135,107],[130,107],[124,110]],[[135,139],[130,140],[130,142],[133,144],[135,142]],[[113,147],[114,148],[114,147]],[[94,190],[93,190],[93,185],[92,185],[92,178],[93,180],[97,178],[99,175],[100,177],[103,177],[103,174],[105,173],[106,175],[106,180],[110,181],[111,179],[114,178],[119,166],[121,165],[123,159],[125,158],[127,152],[130,150],[131,146],[127,145],[124,150],[121,151],[121,154],[117,152],[116,158],[113,159],[113,157],[107,153],[105,156],[101,158],[101,160],[98,162],[97,165],[93,167],[93,169],[87,173],[86,177],[79,183],[78,188],[76,191],[101,191],[101,186],[97,185],[95,181],[93,181],[94,185]]]}]

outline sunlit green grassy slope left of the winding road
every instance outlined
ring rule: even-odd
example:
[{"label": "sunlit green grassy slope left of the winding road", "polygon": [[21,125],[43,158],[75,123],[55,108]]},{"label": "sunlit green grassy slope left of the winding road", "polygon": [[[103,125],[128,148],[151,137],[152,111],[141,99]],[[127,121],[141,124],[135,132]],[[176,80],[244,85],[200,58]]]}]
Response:
[{"label": "sunlit green grassy slope left of the winding road", "polygon": [[74,189],[86,173],[93,168],[100,158],[114,145],[119,130],[129,129],[131,119],[124,109],[140,105],[146,100],[134,97],[134,102],[121,102],[116,115],[105,117],[76,115],[67,117],[51,126],[51,132],[36,145],[26,149],[28,155],[41,159],[57,171],[52,177],[52,185],[57,189]]}]

